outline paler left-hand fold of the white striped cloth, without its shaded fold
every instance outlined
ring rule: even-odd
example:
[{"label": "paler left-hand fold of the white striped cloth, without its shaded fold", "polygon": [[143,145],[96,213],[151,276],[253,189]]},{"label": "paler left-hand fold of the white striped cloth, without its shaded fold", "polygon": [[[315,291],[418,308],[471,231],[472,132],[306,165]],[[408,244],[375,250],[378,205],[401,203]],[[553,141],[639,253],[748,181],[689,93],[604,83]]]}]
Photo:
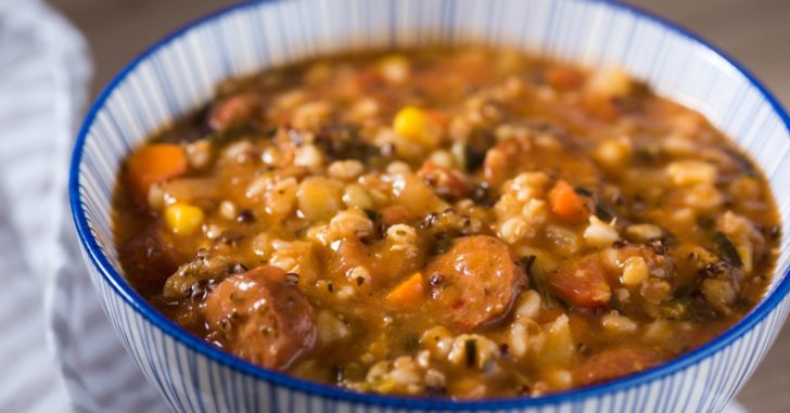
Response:
[{"label": "paler left-hand fold of the white striped cloth, without its shaded fold", "polygon": [[43,292],[64,258],[58,222],[90,70],[82,39],[37,1],[0,2],[0,411],[67,411]]}]

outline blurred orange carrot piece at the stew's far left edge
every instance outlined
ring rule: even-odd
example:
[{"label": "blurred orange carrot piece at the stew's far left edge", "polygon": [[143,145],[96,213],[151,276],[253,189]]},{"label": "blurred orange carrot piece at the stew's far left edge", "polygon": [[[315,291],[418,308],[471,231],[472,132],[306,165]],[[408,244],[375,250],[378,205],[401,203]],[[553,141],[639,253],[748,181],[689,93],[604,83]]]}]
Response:
[{"label": "blurred orange carrot piece at the stew's far left edge", "polygon": [[149,186],[176,178],[187,171],[183,149],[170,143],[145,145],[129,157],[128,178],[141,197],[148,196]]}]

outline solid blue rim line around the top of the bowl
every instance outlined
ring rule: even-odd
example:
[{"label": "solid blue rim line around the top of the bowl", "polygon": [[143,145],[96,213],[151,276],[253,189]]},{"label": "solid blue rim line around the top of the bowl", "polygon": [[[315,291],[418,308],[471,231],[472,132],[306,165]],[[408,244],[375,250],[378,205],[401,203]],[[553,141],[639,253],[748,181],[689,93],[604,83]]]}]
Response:
[{"label": "solid blue rim line around the top of the bowl", "polygon": [[[699,363],[705,358],[709,358],[718,351],[725,349],[729,344],[743,336],[754,325],[761,322],[776,306],[790,292],[790,268],[782,274],[780,284],[775,291],[762,300],[752,311],[750,311],[742,320],[736,323],[732,327],[726,331],[724,334],[717,336],[713,340],[698,347],[680,357],[677,357],[666,363],[663,363],[654,369],[647,370],[630,376],[619,378],[612,382],[608,382],[600,385],[594,385],[579,389],[572,389],[557,393],[550,393],[540,397],[515,397],[507,399],[484,399],[484,400],[471,400],[471,401],[455,401],[448,399],[426,399],[426,398],[409,398],[398,396],[382,396],[374,393],[361,393],[352,390],[342,389],[340,387],[324,385],[314,382],[304,380],[301,378],[293,377],[285,373],[266,370],[264,367],[249,363],[242,359],[239,359],[230,353],[227,353],[201,338],[193,336],[186,330],[182,330],[176,325],[173,321],[167,319],[165,315],[160,313],[151,305],[140,297],[137,292],[124,280],[124,278],[113,268],[112,263],[101,253],[101,247],[97,242],[95,237],[91,234],[88,225],[88,218],[86,211],[82,208],[81,196],[79,192],[79,165],[82,159],[82,149],[85,141],[93,124],[97,114],[104,106],[104,102],[107,100],[110,94],[115,88],[124,81],[124,79],[142,61],[148,59],[151,54],[158,51],[166,44],[170,43],[176,38],[180,37],[190,29],[207,23],[214,18],[217,18],[227,13],[239,11],[242,9],[256,7],[262,3],[277,2],[278,0],[257,0],[257,1],[245,1],[237,3],[216,12],[213,12],[202,18],[193,21],[186,26],[173,31],[162,40],[157,41],[140,55],[138,55],[131,63],[126,65],[118,75],[102,90],[93,105],[90,107],[88,115],[85,118],[82,127],[77,135],[77,141],[74,146],[72,155],[72,163],[69,166],[69,182],[68,182],[68,195],[72,207],[72,216],[79,235],[79,241],[82,247],[88,251],[88,255],[92,263],[99,268],[102,276],[106,282],[110,283],[115,293],[119,294],[123,299],[138,311],[148,322],[152,323],[156,327],[161,328],[165,334],[171,336],[179,343],[183,344],[188,348],[197,351],[199,353],[222,364],[234,371],[247,374],[255,378],[264,379],[271,384],[283,386],[293,390],[303,391],[309,395],[316,395],[324,398],[334,400],[346,400],[349,402],[374,404],[388,408],[406,408],[406,409],[443,409],[443,410],[497,410],[497,409],[519,409],[527,406],[540,406],[547,404],[559,404],[564,402],[573,402],[582,399],[604,396],[607,393],[613,393],[621,390],[626,390],[633,387],[641,386],[671,374],[679,372],[680,370],[688,367],[692,364]],[[603,3],[610,5],[616,10],[629,12],[640,17],[647,18],[648,21],[658,24],[659,26],[680,35],[681,37],[696,42],[703,48],[706,48],[721,57],[723,57],[729,65],[737,69],[743,75],[750,83],[757,89],[763,99],[765,99],[774,112],[779,115],[785,124],[785,127],[790,130],[790,115],[781,106],[779,101],[752,75],[746,67],[738,63],[735,59],[723,52],[718,48],[712,46],[708,41],[703,40],[700,36],[693,34],[689,29],[683,28],[674,23],[660,17],[651,12],[636,8],[630,4],[624,4],[615,0],[586,0],[592,3]],[[787,236],[787,235],[786,235]],[[775,274],[776,275],[776,274]]]}]

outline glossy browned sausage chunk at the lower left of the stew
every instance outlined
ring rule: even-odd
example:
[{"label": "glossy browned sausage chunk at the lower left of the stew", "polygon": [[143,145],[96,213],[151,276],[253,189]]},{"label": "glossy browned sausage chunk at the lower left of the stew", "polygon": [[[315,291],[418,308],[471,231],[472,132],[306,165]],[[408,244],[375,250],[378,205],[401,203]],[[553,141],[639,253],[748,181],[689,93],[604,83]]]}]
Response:
[{"label": "glossy browned sausage chunk at the lower left of the stew", "polygon": [[286,369],[316,343],[313,308],[277,267],[225,279],[206,298],[205,317],[228,350],[268,369]]}]

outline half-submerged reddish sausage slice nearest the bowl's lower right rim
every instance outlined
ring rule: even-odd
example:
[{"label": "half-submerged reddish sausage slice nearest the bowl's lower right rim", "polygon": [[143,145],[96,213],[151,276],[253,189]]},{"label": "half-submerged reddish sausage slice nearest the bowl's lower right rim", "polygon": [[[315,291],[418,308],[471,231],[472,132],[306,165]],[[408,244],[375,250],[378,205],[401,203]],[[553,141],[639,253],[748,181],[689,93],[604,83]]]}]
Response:
[{"label": "half-submerged reddish sausage slice nearest the bowl's lower right rim", "polygon": [[645,347],[623,347],[592,354],[576,367],[579,385],[609,382],[641,372],[663,362],[661,354]]}]

